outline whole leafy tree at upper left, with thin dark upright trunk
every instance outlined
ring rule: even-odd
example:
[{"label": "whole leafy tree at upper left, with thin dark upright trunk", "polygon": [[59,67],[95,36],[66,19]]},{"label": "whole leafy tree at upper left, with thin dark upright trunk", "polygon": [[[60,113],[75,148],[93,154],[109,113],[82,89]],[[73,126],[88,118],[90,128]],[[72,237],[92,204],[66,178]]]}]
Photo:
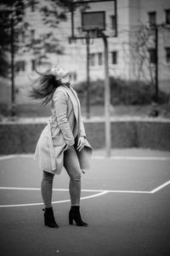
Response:
[{"label": "whole leafy tree at upper left, with thin dark upright trunk", "polygon": [[[62,54],[64,49],[59,41],[56,29],[60,20],[66,20],[65,10],[71,1],[61,0],[1,0],[0,3],[0,76],[11,79],[11,114],[15,111],[15,71],[16,56],[29,52],[37,61],[48,59],[48,54]],[[33,5],[41,16],[47,29],[39,33],[38,38],[31,37],[31,22],[26,20],[26,9]],[[34,29],[36,26],[34,24]],[[47,32],[48,31],[48,32]],[[35,32],[36,34],[36,32]],[[20,38],[26,38],[22,40]],[[3,63],[3,67],[2,67]]]}]

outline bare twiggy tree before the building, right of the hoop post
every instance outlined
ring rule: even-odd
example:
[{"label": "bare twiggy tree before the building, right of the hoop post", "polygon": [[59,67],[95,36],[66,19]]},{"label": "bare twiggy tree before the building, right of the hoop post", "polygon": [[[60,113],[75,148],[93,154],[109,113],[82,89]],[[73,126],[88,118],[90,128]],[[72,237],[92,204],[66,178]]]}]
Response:
[{"label": "bare twiggy tree before the building, right of the hoop post", "polygon": [[[129,42],[123,43],[123,50],[129,50],[130,62],[133,77],[137,80],[144,80],[155,84],[156,73],[156,50],[155,36],[153,29],[140,24],[128,31]],[[126,52],[125,52],[126,55]]]}]

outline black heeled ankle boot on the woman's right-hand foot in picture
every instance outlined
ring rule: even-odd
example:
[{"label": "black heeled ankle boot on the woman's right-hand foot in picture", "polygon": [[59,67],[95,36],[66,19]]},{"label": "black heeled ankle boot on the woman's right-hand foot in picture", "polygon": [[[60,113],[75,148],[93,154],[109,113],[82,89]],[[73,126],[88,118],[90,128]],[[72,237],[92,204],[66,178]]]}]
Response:
[{"label": "black heeled ankle boot on the woman's right-hand foot in picture", "polygon": [[80,214],[80,207],[73,206],[69,212],[69,224],[73,224],[73,220],[76,222],[77,226],[88,226],[87,223],[82,221],[81,214]]}]

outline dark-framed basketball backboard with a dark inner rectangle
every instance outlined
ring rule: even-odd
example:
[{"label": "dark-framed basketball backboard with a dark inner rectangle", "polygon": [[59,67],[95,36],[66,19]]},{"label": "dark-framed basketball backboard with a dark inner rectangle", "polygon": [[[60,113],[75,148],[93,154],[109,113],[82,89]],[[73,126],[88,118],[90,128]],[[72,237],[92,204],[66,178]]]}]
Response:
[{"label": "dark-framed basketball backboard with a dark inner rectangle", "polygon": [[117,36],[116,0],[73,1],[71,8],[71,39],[108,38]]}]

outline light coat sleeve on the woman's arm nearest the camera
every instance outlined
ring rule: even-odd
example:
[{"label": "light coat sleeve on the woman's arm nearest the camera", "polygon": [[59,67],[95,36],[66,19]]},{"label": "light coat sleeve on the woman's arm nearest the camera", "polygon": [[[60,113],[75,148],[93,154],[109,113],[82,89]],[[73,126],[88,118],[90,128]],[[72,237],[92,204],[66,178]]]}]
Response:
[{"label": "light coat sleeve on the woman's arm nearest the camera", "polygon": [[74,145],[75,140],[71,131],[71,126],[67,119],[68,96],[66,95],[65,91],[57,91],[54,93],[53,100],[59,129],[63,134],[65,143],[68,146],[72,146]]}]

